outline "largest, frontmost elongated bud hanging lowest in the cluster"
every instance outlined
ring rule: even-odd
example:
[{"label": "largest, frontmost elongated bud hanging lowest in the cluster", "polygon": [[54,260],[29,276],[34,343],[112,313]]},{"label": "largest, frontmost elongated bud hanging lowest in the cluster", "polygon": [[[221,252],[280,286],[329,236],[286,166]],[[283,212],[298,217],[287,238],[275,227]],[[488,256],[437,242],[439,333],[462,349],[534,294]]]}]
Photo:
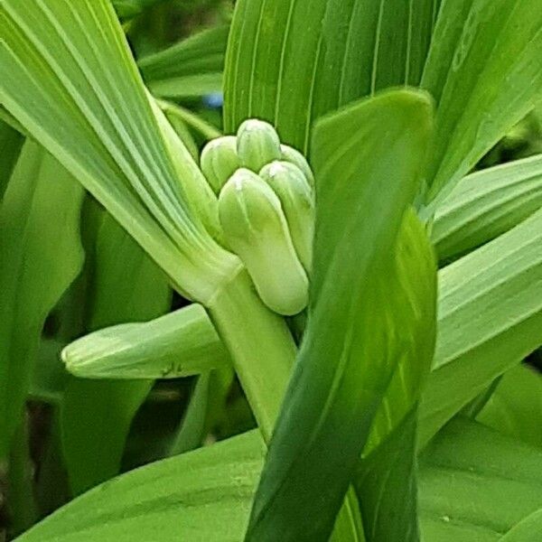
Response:
[{"label": "largest, frontmost elongated bud hanging lowest in the cluster", "polygon": [[308,302],[308,279],[276,193],[241,168],[220,192],[219,216],[229,247],[247,266],[262,301],[276,313],[301,312]]}]

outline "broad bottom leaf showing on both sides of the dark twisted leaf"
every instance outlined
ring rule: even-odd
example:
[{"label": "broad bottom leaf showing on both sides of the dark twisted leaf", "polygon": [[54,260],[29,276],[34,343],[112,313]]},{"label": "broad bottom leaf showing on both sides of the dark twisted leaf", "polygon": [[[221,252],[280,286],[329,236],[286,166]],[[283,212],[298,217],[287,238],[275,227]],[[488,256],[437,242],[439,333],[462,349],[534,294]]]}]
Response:
[{"label": "broad bottom leaf showing on both sides of the dark twisted leaf", "polygon": [[[264,453],[255,431],[147,465],[89,491],[17,540],[135,542],[160,533],[164,542],[239,542]],[[542,506],[541,472],[539,451],[454,421],[420,465],[422,540],[498,540]]]}]

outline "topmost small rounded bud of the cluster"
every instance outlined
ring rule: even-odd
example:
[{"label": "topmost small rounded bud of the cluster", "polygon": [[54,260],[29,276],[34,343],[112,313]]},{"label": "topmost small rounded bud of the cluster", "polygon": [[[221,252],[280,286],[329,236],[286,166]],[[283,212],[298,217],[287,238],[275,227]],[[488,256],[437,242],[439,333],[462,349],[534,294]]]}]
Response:
[{"label": "topmost small rounded bud of the cluster", "polygon": [[257,173],[269,162],[280,160],[280,139],[269,123],[251,118],[239,126],[237,151],[241,165]]}]

